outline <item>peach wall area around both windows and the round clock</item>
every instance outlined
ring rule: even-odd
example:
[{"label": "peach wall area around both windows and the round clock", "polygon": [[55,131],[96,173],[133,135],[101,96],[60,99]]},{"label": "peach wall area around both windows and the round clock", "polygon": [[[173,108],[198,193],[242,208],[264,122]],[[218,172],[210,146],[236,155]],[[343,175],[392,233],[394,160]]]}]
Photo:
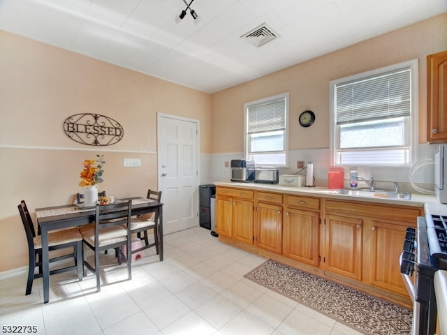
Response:
[{"label": "peach wall area around both windows and the round clock", "polygon": [[[419,142],[426,142],[426,56],[443,50],[447,50],[447,13],[213,94],[212,152],[243,152],[244,103],[284,92],[290,92],[289,149],[328,148],[330,80],[416,58]],[[298,124],[304,110],[316,114],[309,128]]]}]

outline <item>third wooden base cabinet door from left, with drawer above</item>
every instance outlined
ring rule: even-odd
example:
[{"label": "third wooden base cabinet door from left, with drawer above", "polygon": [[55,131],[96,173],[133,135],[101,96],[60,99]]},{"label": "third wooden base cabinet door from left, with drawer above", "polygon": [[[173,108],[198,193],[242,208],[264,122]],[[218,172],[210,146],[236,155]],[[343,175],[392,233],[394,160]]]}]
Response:
[{"label": "third wooden base cabinet door from left, with drawer above", "polygon": [[256,192],[254,243],[278,254],[282,252],[282,202],[281,194]]}]

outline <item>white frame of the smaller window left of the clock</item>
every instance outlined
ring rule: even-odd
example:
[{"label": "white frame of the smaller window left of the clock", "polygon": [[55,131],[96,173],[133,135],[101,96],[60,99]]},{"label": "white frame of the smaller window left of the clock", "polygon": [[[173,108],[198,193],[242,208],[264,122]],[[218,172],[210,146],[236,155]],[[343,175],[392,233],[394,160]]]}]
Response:
[{"label": "white frame of the smaller window left of the clock", "polygon": [[248,134],[248,110],[249,107],[253,107],[254,105],[263,105],[265,103],[268,103],[270,101],[277,101],[279,99],[284,99],[285,101],[285,121],[286,121],[286,127],[284,131],[284,151],[272,151],[272,153],[283,153],[284,152],[284,164],[255,164],[258,168],[287,168],[288,167],[288,103],[289,103],[289,94],[278,94],[277,96],[270,96],[268,98],[263,98],[256,101],[251,101],[249,103],[244,103],[244,156],[245,159],[251,160],[253,159],[253,156],[251,156],[249,152],[249,134]]}]

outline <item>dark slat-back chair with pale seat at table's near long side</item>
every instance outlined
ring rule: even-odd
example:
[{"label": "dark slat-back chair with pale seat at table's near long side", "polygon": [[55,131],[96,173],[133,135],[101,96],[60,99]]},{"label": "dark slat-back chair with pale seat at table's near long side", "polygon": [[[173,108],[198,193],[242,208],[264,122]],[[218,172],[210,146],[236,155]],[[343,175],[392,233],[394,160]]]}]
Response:
[{"label": "dark slat-back chair with pale seat at table's near long side", "polygon": [[[99,276],[99,254],[110,248],[119,250],[118,264],[122,264],[122,259],[126,260],[129,280],[132,279],[131,255],[124,256],[120,246],[126,246],[131,250],[131,205],[132,201],[117,204],[96,204],[95,225],[85,225],[80,228],[82,240],[84,241],[84,265],[96,275],[96,290],[101,291],[101,281]],[[126,225],[126,228],[123,227]],[[86,247],[94,251],[94,266],[87,262]]]}]

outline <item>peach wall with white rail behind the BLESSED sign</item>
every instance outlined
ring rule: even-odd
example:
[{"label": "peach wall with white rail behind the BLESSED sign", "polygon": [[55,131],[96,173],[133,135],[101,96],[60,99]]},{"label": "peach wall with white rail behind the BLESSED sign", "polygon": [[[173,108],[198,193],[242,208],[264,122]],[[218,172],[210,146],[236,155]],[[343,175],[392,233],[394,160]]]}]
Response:
[{"label": "peach wall with white rail behind the BLESSED sign", "polygon": [[[200,153],[210,154],[211,96],[0,31],[0,272],[27,266],[17,204],[29,209],[73,202],[82,162],[104,154],[108,195],[157,189],[156,113],[200,120]],[[64,120],[78,113],[111,117],[123,139],[91,147],[68,138]],[[123,168],[123,158],[141,158]]]}]

